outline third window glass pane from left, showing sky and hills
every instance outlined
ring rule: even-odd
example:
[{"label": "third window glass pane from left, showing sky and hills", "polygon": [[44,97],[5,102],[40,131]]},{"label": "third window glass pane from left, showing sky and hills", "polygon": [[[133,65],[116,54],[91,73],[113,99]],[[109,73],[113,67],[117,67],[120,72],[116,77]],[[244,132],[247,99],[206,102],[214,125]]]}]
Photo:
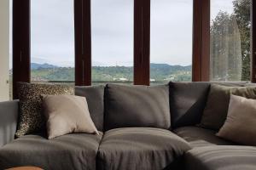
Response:
[{"label": "third window glass pane from left, showing sky and hills", "polygon": [[151,0],[150,82],[191,81],[193,0]]}]

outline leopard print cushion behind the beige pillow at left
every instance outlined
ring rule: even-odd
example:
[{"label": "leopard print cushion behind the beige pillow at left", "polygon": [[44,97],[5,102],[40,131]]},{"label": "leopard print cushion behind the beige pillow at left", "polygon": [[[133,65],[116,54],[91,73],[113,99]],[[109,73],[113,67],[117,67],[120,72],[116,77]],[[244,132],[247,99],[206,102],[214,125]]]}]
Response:
[{"label": "leopard print cushion behind the beige pillow at left", "polygon": [[41,114],[41,94],[74,94],[73,87],[64,85],[35,84],[18,82],[18,95],[20,99],[20,120],[15,137],[36,133],[45,125]]}]

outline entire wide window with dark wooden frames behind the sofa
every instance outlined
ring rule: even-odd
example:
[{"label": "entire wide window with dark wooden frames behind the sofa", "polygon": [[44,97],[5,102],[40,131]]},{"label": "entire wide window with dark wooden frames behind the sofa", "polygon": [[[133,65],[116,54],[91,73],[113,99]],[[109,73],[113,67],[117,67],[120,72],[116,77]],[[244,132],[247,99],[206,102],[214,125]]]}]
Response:
[{"label": "entire wide window with dark wooden frames behind the sofa", "polygon": [[192,77],[193,81],[249,81],[250,68],[256,71],[254,55],[250,59],[250,46],[255,48],[250,44],[250,30],[254,30],[250,16],[255,15],[251,0],[85,2],[14,1],[15,66],[10,70],[14,84],[29,82],[30,56],[32,82],[73,82],[76,58],[79,85],[90,85],[91,80],[94,85],[148,84],[149,42],[151,84]]}]

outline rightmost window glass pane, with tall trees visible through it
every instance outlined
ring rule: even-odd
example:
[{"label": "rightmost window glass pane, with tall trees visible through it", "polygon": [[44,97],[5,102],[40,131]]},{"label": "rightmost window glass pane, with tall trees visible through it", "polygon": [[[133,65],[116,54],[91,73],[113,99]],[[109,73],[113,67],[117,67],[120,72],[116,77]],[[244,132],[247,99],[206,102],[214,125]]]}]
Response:
[{"label": "rightmost window glass pane, with tall trees visible through it", "polygon": [[250,0],[212,0],[211,80],[250,80]]}]

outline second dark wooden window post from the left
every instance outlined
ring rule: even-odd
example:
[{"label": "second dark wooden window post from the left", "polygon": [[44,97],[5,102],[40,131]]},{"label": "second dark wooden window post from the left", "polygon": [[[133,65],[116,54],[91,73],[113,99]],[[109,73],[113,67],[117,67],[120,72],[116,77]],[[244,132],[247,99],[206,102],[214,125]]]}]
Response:
[{"label": "second dark wooden window post from the left", "polygon": [[91,85],[90,0],[74,0],[75,85]]}]

